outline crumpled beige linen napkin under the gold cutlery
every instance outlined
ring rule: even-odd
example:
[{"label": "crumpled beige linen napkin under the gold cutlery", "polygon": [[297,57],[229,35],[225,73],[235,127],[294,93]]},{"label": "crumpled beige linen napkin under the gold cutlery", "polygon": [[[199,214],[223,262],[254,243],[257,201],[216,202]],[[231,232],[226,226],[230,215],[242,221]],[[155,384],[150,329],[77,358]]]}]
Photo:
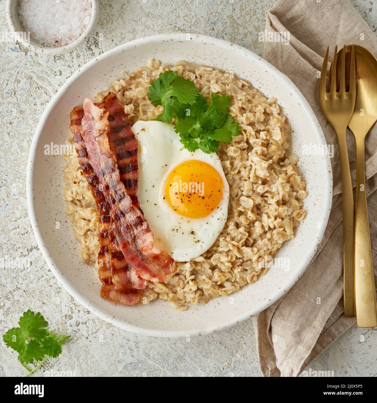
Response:
[{"label": "crumpled beige linen napkin under the gold cutlery", "polygon": [[[333,205],[323,241],[292,289],[253,317],[260,368],[265,376],[298,376],[315,357],[355,323],[343,316],[342,183],[335,132],[318,100],[319,78],[327,46],[360,44],[377,55],[377,38],[346,0],[279,0],[267,15],[268,31],[290,32],[290,43],[266,42],[263,57],[296,84],[314,110],[327,144],[334,145]],[[332,56],[329,57],[330,61]],[[355,141],[347,133],[355,183]],[[373,264],[377,268],[377,125],[366,141],[366,178]],[[306,219],[309,218],[310,215]],[[366,330],[360,328],[360,335]],[[336,368],[333,370],[335,376]]]}]

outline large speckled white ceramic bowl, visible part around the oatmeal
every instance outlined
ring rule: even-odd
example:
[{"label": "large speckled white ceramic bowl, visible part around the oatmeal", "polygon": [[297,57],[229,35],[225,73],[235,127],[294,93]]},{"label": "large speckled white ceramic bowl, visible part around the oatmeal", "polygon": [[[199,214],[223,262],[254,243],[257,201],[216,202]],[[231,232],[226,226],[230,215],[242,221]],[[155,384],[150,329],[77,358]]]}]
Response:
[{"label": "large speckled white ceramic bowl, visible part around the oatmeal", "polygon": [[[271,268],[253,285],[231,297],[175,310],[168,302],[154,301],[133,307],[111,303],[100,297],[96,270],[81,263],[79,244],[62,200],[61,156],[44,155],[44,145],[64,144],[71,136],[69,112],[94,97],[122,71],[145,66],[150,58],[162,63],[187,60],[233,71],[265,96],[275,96],[292,126],[292,150],[300,156],[298,169],[307,182],[304,200],[306,218],[296,238],[286,242],[277,258],[290,258],[290,269]],[[79,302],[104,320],[126,330],[159,337],[185,337],[220,330],[264,310],[298,280],[323,237],[332,195],[332,174],[327,156],[303,155],[304,144],[325,145],[317,119],[300,91],[271,64],[240,46],[203,35],[156,35],[137,39],[112,49],[85,64],[52,98],[37,126],[27,167],[27,202],[34,234],[48,266],[58,282]],[[60,222],[60,229],[55,228]]]}]

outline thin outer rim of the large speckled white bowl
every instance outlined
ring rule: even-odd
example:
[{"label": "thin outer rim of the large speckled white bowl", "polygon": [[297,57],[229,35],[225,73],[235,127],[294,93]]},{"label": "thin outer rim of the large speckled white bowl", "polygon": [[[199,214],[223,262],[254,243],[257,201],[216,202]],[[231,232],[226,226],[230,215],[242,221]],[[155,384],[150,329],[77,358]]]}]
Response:
[{"label": "thin outer rim of the large speckled white bowl", "polygon": [[[327,145],[325,136],[323,135],[323,131],[321,129],[321,126],[319,125],[314,112],[310,108],[310,105],[308,104],[308,102],[306,101],[306,99],[304,98],[302,93],[298,90],[298,88],[294,85],[294,83],[292,83],[292,81],[287,76],[285,76],[283,73],[278,71],[269,62],[262,59],[260,56],[258,56],[251,50],[243,48],[242,46],[238,46],[231,42],[224,41],[223,39],[217,39],[217,38],[210,37],[207,35],[196,35],[196,34],[190,34],[190,35],[191,35],[191,41],[201,42],[201,43],[209,42],[209,43],[216,44],[217,46],[223,47],[223,48],[231,47],[233,51],[239,52],[242,57],[248,57],[248,58],[250,58],[250,60],[254,60],[255,62],[260,63],[272,75],[275,75],[277,78],[279,78],[285,85],[290,87],[290,90],[293,91],[292,93],[294,93],[298,97],[298,99],[300,100],[300,103],[308,111],[308,117],[311,120],[313,127],[317,128],[317,134],[319,135],[319,140],[322,142],[323,146]],[[324,201],[324,209],[323,209],[325,225],[322,226],[322,230],[319,232],[319,235],[317,235],[316,239],[313,240],[312,247],[310,249],[310,253],[308,253],[306,259],[302,261],[301,270],[297,271],[296,274],[294,276],[292,276],[290,282],[287,283],[287,287],[285,287],[284,290],[277,289],[276,294],[273,296],[270,296],[268,301],[267,300],[265,301],[265,304],[263,305],[262,309],[258,309],[258,310],[250,309],[248,312],[235,316],[231,320],[227,320],[222,324],[212,326],[212,327],[206,328],[204,330],[196,329],[196,330],[190,330],[189,332],[187,332],[187,330],[184,330],[184,331],[182,331],[182,330],[177,330],[177,331],[164,330],[164,331],[162,331],[162,330],[152,330],[152,329],[146,329],[146,328],[139,327],[139,326],[134,326],[132,324],[125,323],[123,320],[119,320],[109,314],[102,312],[97,307],[95,307],[89,299],[83,297],[82,295],[77,293],[75,290],[73,290],[69,284],[67,284],[67,283],[62,284],[60,282],[59,269],[55,265],[53,259],[49,256],[48,249],[44,245],[40,230],[37,226],[37,220],[35,217],[34,206],[33,206],[32,178],[33,178],[33,166],[34,166],[34,160],[35,160],[35,152],[36,152],[36,147],[37,147],[39,137],[42,133],[42,130],[44,128],[44,123],[46,122],[48,115],[50,114],[54,105],[60,100],[60,98],[62,98],[67,87],[69,87],[71,85],[71,83],[73,83],[80,75],[84,74],[85,71],[87,71],[87,69],[89,69],[91,66],[96,64],[99,60],[102,60],[105,58],[111,58],[111,56],[117,54],[118,52],[123,52],[127,49],[131,49],[131,48],[138,47],[138,46],[143,46],[144,44],[147,44],[150,42],[176,41],[176,42],[184,43],[184,42],[187,42],[186,38],[187,38],[187,34],[171,33],[171,34],[153,35],[153,36],[149,36],[149,37],[135,39],[131,42],[127,42],[124,45],[117,46],[114,49],[108,50],[107,52],[103,53],[102,55],[94,58],[93,60],[90,60],[90,62],[87,62],[84,66],[82,66],[79,70],[77,70],[69,79],[67,79],[67,81],[62,85],[62,87],[60,87],[60,89],[57,91],[57,93],[54,95],[54,97],[50,100],[50,102],[46,106],[46,109],[44,110],[42,117],[40,118],[37,128],[35,129],[33,140],[31,142],[28,164],[27,164],[27,174],[26,174],[27,207],[28,207],[28,211],[29,211],[31,225],[32,225],[32,228],[34,231],[35,239],[37,240],[37,243],[38,243],[38,246],[40,247],[42,255],[44,256],[44,259],[46,260],[52,273],[55,275],[56,279],[58,280],[58,283],[60,285],[62,285],[62,287],[64,287],[73,297],[75,297],[77,299],[77,301],[79,301],[84,307],[86,307],[93,314],[99,316],[100,318],[106,320],[107,322],[112,323],[115,326],[118,326],[119,328],[131,331],[131,332],[135,332],[135,333],[144,334],[146,336],[152,336],[152,337],[179,338],[179,337],[186,337],[187,334],[190,334],[192,336],[210,334],[215,331],[229,328],[239,322],[249,319],[252,315],[256,315],[259,312],[262,312],[262,310],[265,310],[268,306],[270,306],[272,303],[277,301],[282,295],[284,295],[287,291],[289,291],[290,288],[296,283],[298,278],[300,278],[300,276],[302,275],[302,273],[305,271],[306,267],[312,260],[313,256],[315,255],[318,245],[323,238],[323,234],[325,233],[325,228],[327,226],[327,222],[328,222],[328,218],[329,218],[329,214],[330,214],[330,210],[331,210],[331,202],[332,202],[333,189],[332,189],[331,162],[330,162],[329,156],[324,156],[325,163],[327,164],[326,177],[325,177],[326,183],[324,184],[324,186],[325,186],[325,188],[328,189],[328,192],[326,192],[327,199]]]}]

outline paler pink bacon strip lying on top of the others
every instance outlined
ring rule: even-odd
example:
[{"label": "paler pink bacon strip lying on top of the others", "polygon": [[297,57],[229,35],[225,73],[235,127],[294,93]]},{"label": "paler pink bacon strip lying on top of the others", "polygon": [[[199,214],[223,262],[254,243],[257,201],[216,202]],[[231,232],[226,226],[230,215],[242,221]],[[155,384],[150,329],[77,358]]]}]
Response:
[{"label": "paler pink bacon strip lying on top of the others", "polygon": [[154,247],[154,237],[142,212],[132,204],[121,181],[117,158],[108,140],[109,111],[84,100],[83,137],[90,163],[110,205],[110,215],[119,247],[131,268],[131,281],[137,287],[137,277],[162,282],[175,272],[175,261]]}]

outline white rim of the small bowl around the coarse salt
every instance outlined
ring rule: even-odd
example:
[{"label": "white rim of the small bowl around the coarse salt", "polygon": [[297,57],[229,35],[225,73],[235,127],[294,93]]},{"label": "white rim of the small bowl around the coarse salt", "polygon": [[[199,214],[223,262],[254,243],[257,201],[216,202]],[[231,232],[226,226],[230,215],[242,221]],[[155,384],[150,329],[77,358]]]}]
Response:
[{"label": "white rim of the small bowl around the coarse salt", "polygon": [[[23,32],[18,18],[18,0],[6,0],[6,19],[8,25],[12,32],[18,33]],[[42,54],[60,54],[71,52],[71,50],[76,49],[81,44],[85,42],[87,37],[92,33],[94,26],[98,19],[98,0],[92,0],[92,16],[90,17],[89,24],[87,25],[85,31],[71,44],[66,46],[44,46],[36,42],[32,37],[30,37],[30,43],[23,39],[21,36],[19,41],[22,42],[24,46],[30,46],[37,53]]]}]

